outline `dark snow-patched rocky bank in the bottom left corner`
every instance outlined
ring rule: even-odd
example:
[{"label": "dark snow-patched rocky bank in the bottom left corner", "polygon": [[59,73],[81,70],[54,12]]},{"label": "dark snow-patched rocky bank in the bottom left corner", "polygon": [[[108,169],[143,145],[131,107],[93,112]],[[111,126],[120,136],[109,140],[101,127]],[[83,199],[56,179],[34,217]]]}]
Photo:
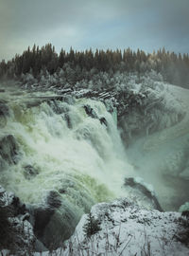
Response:
[{"label": "dark snow-patched rocky bank in the bottom left corner", "polygon": [[21,256],[33,251],[36,238],[28,217],[20,199],[0,186],[0,249]]}]

